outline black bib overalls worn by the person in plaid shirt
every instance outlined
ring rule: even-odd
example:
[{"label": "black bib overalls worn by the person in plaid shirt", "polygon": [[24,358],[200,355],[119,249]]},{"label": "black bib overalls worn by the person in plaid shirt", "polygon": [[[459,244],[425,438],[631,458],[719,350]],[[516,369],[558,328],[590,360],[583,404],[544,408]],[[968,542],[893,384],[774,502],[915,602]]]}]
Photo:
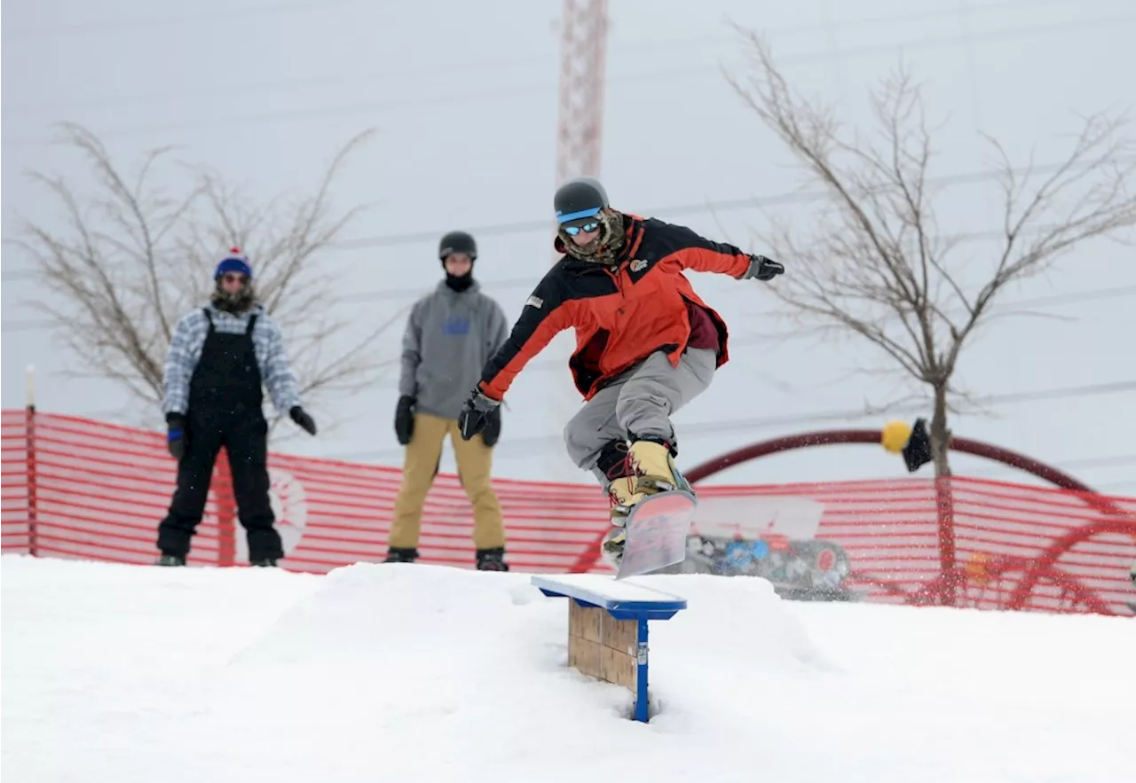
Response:
[{"label": "black bib overalls worn by the person in plaid shirt", "polygon": [[214,327],[190,379],[185,415],[185,454],[177,465],[177,489],[169,513],[158,525],[158,548],[184,557],[209,497],[214,463],[222,446],[228,454],[237,515],[249,541],[249,562],[284,556],[268,498],[268,422],[261,410],[264,392],[249,319],[244,334],[226,335]]}]

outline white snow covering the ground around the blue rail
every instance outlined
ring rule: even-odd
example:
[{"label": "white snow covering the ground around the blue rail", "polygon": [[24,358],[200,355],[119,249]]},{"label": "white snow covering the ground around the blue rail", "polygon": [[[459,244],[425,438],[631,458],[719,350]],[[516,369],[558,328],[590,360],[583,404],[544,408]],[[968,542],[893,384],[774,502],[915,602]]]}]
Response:
[{"label": "white snow covering the ground around the blue rail", "polygon": [[1136,780],[1136,623],[645,576],[650,724],[521,573],[0,557],[0,780]]}]

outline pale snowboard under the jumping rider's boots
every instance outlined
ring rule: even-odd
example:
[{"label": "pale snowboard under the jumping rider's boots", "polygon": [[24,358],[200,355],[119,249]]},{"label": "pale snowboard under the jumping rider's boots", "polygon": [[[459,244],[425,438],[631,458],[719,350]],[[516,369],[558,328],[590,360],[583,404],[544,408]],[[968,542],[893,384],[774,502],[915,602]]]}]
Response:
[{"label": "pale snowboard under the jumping rider's boots", "polygon": [[659,492],[640,500],[624,524],[627,540],[616,579],[626,579],[682,563],[698,500],[684,490]]}]

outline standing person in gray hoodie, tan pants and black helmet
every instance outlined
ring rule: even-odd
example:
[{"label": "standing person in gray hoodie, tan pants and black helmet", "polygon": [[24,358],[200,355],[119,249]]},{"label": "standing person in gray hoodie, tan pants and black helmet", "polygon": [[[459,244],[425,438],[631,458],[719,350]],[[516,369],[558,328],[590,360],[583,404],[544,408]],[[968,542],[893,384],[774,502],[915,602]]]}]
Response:
[{"label": "standing person in gray hoodie, tan pants and black helmet", "polygon": [[473,236],[450,231],[438,244],[438,258],[445,279],[415,303],[402,336],[394,432],[407,453],[385,562],[418,558],[423,503],[449,436],[461,486],[474,507],[476,565],[482,571],[508,571],[501,504],[490,481],[493,446],[501,436],[500,412],[481,438],[470,440],[460,436],[458,414],[485,362],[509,337],[509,323],[501,306],[474,280]]}]

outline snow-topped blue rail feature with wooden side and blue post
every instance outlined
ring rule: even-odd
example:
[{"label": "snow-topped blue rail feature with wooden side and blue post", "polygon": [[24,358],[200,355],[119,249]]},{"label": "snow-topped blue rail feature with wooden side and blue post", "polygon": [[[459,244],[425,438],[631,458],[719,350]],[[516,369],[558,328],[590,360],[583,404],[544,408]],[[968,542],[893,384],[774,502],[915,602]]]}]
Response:
[{"label": "snow-topped blue rail feature with wooden side and blue post", "polygon": [[536,575],[545,596],[568,598],[568,665],[623,685],[635,696],[633,717],[649,719],[648,622],[670,620],[686,599],[602,574]]}]

